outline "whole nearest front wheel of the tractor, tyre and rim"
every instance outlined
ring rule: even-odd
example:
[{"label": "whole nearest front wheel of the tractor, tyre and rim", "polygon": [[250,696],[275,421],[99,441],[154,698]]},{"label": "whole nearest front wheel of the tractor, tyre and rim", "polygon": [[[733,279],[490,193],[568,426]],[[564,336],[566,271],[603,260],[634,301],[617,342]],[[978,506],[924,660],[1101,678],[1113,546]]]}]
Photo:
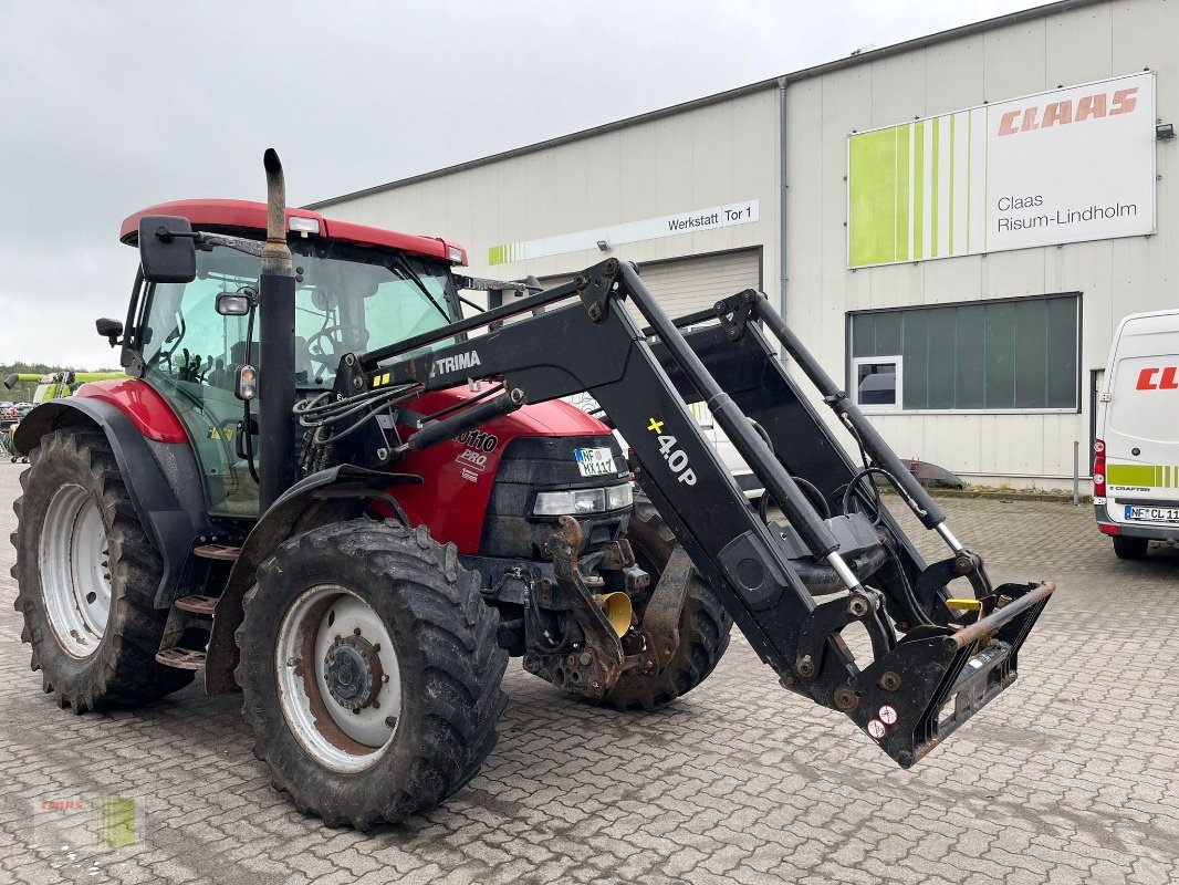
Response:
[{"label": "whole nearest front wheel of the tractor, tyre and rim", "polygon": [[429,811],[495,746],[498,625],[477,576],[424,526],[357,519],[286,540],[237,632],[255,755],[329,826]]}]

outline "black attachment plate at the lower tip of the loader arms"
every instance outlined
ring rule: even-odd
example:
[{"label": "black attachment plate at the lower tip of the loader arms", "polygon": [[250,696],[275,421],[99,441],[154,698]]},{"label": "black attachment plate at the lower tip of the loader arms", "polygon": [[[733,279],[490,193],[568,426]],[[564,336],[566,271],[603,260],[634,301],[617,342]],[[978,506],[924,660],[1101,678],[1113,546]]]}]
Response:
[{"label": "black attachment plate at the lower tip of the loader arms", "polygon": [[902,768],[910,767],[1010,687],[1020,647],[1055,589],[1003,584],[995,595],[1010,602],[980,621],[956,632],[914,630],[859,674],[851,719]]}]

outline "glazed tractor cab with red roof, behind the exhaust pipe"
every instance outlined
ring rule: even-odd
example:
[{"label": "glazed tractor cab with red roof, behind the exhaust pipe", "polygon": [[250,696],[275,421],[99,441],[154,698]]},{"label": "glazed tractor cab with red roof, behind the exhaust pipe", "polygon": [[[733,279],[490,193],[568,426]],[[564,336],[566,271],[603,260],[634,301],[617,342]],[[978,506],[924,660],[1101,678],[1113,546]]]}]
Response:
[{"label": "glazed tractor cab with red roof, behind the exhaust pipe", "polygon": [[[163,212],[189,218],[196,230],[248,237],[259,245],[265,238],[264,204],[191,201],[129,217],[123,241],[134,244],[139,218]],[[345,353],[461,319],[450,273],[466,257],[459,247],[297,210],[289,211],[288,228],[301,396],[330,389]],[[343,236],[332,237],[334,229]],[[251,437],[258,431],[259,402],[256,388],[248,387],[243,398],[242,379],[255,378],[259,367],[261,273],[257,255],[200,243],[191,281],[139,281],[123,341],[123,365],[141,367],[193,441],[209,512],[217,517],[258,516],[259,459]]]}]

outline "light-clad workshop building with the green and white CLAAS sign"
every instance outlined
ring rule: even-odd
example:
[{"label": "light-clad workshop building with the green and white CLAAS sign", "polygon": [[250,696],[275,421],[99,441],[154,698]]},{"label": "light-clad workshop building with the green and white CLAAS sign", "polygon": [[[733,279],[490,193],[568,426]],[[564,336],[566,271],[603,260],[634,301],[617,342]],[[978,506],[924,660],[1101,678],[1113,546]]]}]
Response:
[{"label": "light-clad workshop building with the green and white CLAAS sign", "polygon": [[1173,37],[1056,2],[312,208],[505,280],[634,261],[672,314],[762,289],[902,457],[1068,486],[1119,320],[1179,302]]}]

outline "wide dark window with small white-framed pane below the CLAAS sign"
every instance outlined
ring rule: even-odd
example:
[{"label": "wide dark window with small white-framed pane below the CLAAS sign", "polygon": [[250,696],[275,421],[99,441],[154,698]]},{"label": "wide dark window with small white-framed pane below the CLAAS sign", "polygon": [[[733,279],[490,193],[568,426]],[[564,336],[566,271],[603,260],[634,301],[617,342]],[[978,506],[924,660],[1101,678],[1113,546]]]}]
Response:
[{"label": "wide dark window with small white-framed pane below the CLAAS sign", "polygon": [[1079,333],[1076,293],[852,313],[849,387],[874,411],[1075,412]]}]

